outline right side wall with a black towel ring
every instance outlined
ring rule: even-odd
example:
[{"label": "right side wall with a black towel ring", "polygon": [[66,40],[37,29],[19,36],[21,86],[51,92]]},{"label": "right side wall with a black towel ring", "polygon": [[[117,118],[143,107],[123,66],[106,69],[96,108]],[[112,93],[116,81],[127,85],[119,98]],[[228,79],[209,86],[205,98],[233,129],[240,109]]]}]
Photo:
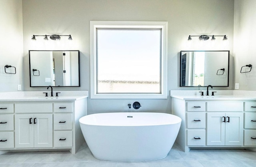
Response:
[{"label": "right side wall with a black towel ring", "polygon": [[[240,90],[256,90],[256,1],[235,0],[234,55],[235,82]],[[240,74],[242,66],[252,64],[252,71]]]}]

